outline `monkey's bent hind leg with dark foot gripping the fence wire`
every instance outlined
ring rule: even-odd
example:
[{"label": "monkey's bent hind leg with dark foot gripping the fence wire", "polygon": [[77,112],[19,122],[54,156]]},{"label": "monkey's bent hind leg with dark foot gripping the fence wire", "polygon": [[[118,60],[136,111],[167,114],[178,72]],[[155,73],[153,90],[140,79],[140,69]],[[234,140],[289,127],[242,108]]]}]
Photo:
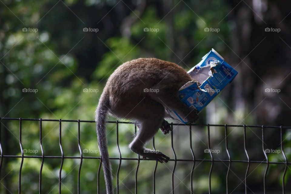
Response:
[{"label": "monkey's bent hind leg with dark foot gripping the fence wire", "polygon": [[133,114],[136,115],[135,120],[139,131],[133,141],[129,144],[130,149],[140,156],[157,160],[161,163],[168,162],[170,158],[162,152],[144,147],[145,143],[152,139],[164,121],[165,109],[163,105],[152,99],[145,99],[144,102],[140,103],[139,108],[143,109],[142,113],[135,113],[134,110],[132,111],[134,112]]}]

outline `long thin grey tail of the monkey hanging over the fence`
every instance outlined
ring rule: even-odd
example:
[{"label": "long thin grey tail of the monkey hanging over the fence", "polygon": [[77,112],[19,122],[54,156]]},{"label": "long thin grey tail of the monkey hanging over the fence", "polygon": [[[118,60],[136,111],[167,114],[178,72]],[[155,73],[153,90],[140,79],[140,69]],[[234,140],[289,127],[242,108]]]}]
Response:
[{"label": "long thin grey tail of the monkey hanging over the fence", "polygon": [[106,193],[114,194],[113,184],[112,184],[112,170],[111,163],[109,161],[109,153],[107,149],[107,139],[106,139],[106,128],[105,121],[108,113],[109,107],[109,95],[107,92],[103,92],[95,115],[96,121],[96,131],[98,137],[98,147],[102,159],[102,167],[104,172],[105,184],[106,184]]}]

